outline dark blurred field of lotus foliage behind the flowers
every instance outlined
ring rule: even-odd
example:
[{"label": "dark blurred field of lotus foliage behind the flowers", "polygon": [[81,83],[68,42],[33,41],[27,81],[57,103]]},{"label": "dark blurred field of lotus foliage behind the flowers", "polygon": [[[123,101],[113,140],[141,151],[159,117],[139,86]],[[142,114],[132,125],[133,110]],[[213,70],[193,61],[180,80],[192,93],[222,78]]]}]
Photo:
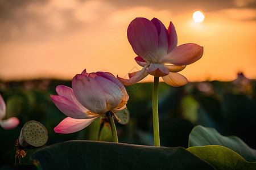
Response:
[{"label": "dark blurred field of lotus foliage behind the flowers", "polygon": [[[84,130],[73,134],[57,134],[53,128],[66,116],[57,109],[50,95],[56,95],[58,85],[71,87],[71,81],[40,79],[20,82],[0,82],[0,93],[6,101],[6,118],[16,116],[17,128],[0,128],[0,167],[14,165],[15,141],[22,126],[30,120],[43,124],[48,130],[48,145],[82,139],[97,140],[100,118]],[[152,83],[127,86],[130,96],[127,108],[130,122],[116,122],[119,142],[154,145],[152,134]],[[161,146],[188,147],[188,135],[196,125],[212,127],[222,135],[237,135],[256,148],[256,82],[238,73],[232,82],[189,82],[183,87],[159,85],[159,125]],[[109,126],[104,126],[101,141],[112,141]],[[35,150],[26,150],[21,164],[31,164]]]}]

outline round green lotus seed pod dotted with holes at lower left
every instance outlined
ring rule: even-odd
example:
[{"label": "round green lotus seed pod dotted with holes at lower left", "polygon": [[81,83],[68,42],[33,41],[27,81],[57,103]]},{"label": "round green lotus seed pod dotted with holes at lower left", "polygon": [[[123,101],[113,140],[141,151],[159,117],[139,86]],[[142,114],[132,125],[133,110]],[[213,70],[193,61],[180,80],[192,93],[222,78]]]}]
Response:
[{"label": "round green lotus seed pod dotted with holes at lower left", "polygon": [[37,121],[28,121],[19,135],[19,144],[23,148],[37,148],[46,144],[48,140],[47,129]]}]

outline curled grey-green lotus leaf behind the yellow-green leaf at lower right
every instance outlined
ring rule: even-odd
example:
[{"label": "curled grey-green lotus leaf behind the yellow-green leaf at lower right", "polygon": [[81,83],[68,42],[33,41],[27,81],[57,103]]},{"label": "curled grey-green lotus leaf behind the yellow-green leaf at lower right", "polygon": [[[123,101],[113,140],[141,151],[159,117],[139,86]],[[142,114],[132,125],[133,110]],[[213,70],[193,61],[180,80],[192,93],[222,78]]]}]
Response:
[{"label": "curled grey-green lotus leaf behind the yellow-green leaf at lower right", "polygon": [[236,136],[224,137],[214,128],[196,126],[189,134],[188,146],[220,145],[240,154],[248,162],[256,162],[256,150]]}]

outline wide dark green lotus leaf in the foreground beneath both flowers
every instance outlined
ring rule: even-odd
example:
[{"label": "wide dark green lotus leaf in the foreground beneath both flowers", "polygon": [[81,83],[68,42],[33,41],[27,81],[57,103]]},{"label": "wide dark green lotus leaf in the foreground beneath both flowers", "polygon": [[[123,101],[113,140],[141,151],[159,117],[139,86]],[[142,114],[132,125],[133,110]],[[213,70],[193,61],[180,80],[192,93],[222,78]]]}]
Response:
[{"label": "wide dark green lotus leaf in the foreground beneath both flowers", "polygon": [[42,169],[213,169],[183,147],[68,141],[36,151]]}]

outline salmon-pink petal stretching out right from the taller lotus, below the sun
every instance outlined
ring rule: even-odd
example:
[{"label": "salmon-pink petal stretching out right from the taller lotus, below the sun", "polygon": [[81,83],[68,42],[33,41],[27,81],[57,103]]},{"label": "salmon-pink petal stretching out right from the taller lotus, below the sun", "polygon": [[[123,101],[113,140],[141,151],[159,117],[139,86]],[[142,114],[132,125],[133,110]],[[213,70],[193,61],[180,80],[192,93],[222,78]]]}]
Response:
[{"label": "salmon-pink petal stretching out right from the taller lotus, below the sun", "polygon": [[203,56],[203,51],[203,46],[199,46],[197,44],[188,43],[179,45],[174,48],[171,53],[168,53],[160,59],[160,62],[172,63],[180,66],[190,65]]}]

